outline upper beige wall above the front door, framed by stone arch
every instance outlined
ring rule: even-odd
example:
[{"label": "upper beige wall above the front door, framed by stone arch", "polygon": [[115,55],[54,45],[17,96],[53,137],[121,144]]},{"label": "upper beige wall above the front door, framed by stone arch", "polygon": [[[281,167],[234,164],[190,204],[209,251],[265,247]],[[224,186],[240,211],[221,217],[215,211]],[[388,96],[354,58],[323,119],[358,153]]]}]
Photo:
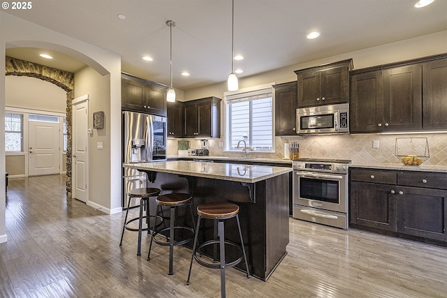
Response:
[{"label": "upper beige wall above the front door, framed by stone arch", "polygon": [[66,91],[36,77],[8,75],[5,105],[31,110],[66,112]]}]

